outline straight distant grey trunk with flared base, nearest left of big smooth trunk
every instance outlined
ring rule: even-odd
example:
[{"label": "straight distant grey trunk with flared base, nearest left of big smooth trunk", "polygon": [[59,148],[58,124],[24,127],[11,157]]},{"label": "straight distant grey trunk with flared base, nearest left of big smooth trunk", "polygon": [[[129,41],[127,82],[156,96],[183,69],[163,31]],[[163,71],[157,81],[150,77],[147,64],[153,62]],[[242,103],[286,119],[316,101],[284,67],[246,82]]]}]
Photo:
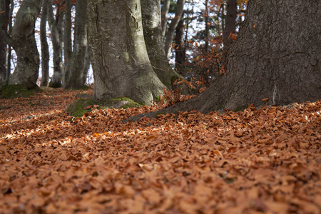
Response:
[{"label": "straight distant grey trunk with flared base, nearest left of big smooth trunk", "polygon": [[67,59],[67,66],[63,73],[65,88],[83,87],[83,65],[87,46],[87,0],[76,2],[75,36],[73,52]]}]

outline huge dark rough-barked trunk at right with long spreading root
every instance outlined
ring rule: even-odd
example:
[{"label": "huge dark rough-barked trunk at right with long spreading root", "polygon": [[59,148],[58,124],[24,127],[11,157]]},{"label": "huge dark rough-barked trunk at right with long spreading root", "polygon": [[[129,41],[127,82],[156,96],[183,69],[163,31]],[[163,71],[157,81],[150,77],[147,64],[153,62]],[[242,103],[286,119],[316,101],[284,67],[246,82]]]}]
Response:
[{"label": "huge dark rough-barked trunk at right with long spreading root", "polygon": [[259,107],[320,100],[321,22],[315,20],[321,20],[320,0],[249,1],[225,75],[200,96],[162,112],[238,111],[251,103]]}]

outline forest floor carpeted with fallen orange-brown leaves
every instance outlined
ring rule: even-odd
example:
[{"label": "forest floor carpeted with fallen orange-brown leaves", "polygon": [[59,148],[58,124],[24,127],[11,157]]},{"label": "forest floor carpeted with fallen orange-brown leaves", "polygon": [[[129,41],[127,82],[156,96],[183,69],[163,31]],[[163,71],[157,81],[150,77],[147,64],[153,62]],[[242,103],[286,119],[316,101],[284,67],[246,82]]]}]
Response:
[{"label": "forest floor carpeted with fallen orange-brown leaves", "polygon": [[321,103],[122,121],[56,89],[0,100],[0,213],[321,213]]}]

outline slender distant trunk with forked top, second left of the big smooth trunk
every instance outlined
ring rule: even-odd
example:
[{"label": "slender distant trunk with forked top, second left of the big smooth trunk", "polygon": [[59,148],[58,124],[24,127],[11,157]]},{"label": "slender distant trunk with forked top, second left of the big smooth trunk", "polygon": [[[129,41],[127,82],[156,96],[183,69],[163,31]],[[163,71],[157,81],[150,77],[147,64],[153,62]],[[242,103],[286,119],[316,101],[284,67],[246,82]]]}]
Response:
[{"label": "slender distant trunk with forked top, second left of the big smooth trunk", "polygon": [[51,41],[53,47],[53,63],[54,73],[51,76],[49,87],[61,87],[61,79],[63,76],[63,11],[57,6],[56,19],[54,19],[54,11],[52,9],[52,0],[49,0],[48,5],[48,23],[51,29]]}]

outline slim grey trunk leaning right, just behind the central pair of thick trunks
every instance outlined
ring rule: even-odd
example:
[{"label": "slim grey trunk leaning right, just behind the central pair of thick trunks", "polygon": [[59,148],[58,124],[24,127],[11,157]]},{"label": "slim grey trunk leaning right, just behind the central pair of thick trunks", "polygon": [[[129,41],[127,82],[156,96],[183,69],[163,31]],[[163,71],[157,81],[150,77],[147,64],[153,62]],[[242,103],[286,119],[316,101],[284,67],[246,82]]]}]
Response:
[{"label": "slim grey trunk leaning right, just behind the central pair of thick trunks", "polygon": [[175,12],[175,17],[174,19],[172,19],[172,21],[170,21],[170,25],[168,27],[168,31],[165,38],[165,54],[167,58],[170,56],[170,51],[171,51],[170,44],[173,41],[176,26],[178,25],[178,22],[180,21],[180,17],[183,14],[184,4],[185,4],[185,0],[177,1],[177,9]]}]

